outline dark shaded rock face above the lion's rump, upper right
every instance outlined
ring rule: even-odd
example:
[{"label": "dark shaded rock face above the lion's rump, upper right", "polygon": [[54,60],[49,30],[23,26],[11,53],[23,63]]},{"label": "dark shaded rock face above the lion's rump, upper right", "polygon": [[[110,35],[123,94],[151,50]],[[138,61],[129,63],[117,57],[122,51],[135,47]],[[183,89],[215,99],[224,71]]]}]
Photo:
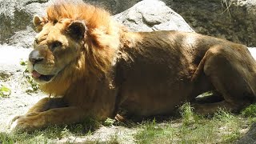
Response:
[{"label": "dark shaded rock face above the lion's rump, upper right", "polygon": [[256,46],[255,0],[173,0],[173,10],[198,33]]}]

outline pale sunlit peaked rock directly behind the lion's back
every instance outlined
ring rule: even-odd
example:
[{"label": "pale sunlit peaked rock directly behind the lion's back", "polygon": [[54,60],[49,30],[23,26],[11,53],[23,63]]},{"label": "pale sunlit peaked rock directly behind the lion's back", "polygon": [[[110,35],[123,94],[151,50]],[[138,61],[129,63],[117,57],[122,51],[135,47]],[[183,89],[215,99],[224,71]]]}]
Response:
[{"label": "pale sunlit peaked rock directly behind the lion's back", "polygon": [[181,30],[194,32],[185,20],[164,2],[144,0],[114,18],[132,31]]}]

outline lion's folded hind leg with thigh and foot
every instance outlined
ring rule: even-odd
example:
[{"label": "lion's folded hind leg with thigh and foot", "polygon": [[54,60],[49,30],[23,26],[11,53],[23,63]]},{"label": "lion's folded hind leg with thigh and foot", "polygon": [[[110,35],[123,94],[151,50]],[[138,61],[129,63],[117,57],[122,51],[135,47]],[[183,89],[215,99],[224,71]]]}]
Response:
[{"label": "lion's folded hind leg with thigh and foot", "polygon": [[214,114],[219,108],[238,111],[255,98],[255,63],[246,47],[214,46],[206,52],[202,71],[210,78],[215,90],[222,94],[221,102],[196,104],[200,114]]}]

